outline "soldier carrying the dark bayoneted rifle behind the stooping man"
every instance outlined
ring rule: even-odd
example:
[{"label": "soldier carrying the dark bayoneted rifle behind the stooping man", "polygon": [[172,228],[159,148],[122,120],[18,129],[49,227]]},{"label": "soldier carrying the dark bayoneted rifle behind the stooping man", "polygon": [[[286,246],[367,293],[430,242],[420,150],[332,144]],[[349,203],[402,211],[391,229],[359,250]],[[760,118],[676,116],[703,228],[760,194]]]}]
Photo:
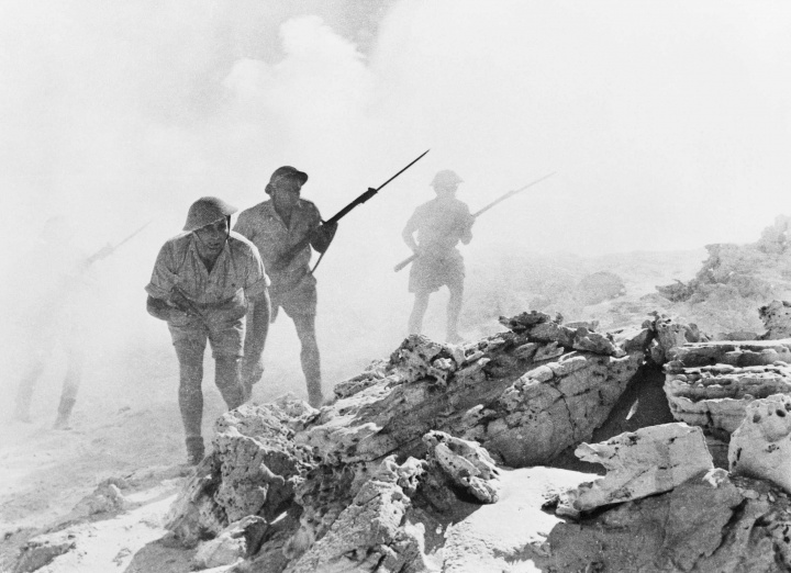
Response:
[{"label": "soldier carrying the dark bayoneted rifle behind the stooping man", "polygon": [[316,206],[300,199],[305,181],[305,172],[290,166],[277,168],[266,186],[271,199],[243,211],[234,231],[250,239],[264,259],[271,280],[272,321],[282,307],[294,323],[308,401],[319,407],[324,397],[315,336],[316,280],[310,272],[311,247],[324,252],[337,225],[322,224]]}]

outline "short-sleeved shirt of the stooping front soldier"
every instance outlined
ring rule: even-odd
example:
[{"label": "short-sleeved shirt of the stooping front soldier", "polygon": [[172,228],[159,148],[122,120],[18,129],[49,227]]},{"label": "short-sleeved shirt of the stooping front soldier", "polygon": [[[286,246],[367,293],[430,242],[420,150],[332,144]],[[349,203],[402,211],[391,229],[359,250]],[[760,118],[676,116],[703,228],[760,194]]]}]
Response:
[{"label": "short-sleeved shirt of the stooping front soldier", "polygon": [[198,305],[220,305],[238,297],[239,291],[252,300],[266,291],[264,265],[249,240],[231,232],[211,272],[198,255],[197,240],[193,233],[182,233],[163,245],[145,288],[148,294],[168,300],[178,286]]}]

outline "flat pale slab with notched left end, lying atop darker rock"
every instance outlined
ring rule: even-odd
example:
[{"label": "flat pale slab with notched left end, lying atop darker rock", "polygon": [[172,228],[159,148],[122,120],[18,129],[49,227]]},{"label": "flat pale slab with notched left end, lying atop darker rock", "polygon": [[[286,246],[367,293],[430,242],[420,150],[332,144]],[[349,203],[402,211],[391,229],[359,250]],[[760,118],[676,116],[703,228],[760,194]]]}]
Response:
[{"label": "flat pale slab with notched left end, lying atop darker rock", "polygon": [[687,424],[649,426],[603,443],[582,443],[575,454],[601,463],[608,473],[561,496],[557,513],[571,517],[667,492],[714,468],[703,431]]}]

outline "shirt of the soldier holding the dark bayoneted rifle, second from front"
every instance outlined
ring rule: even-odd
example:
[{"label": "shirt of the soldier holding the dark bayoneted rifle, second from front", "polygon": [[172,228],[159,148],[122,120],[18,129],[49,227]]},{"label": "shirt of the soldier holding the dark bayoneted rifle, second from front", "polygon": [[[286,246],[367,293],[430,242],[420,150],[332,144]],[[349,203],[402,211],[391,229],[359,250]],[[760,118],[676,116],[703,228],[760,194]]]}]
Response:
[{"label": "shirt of the soldier holding the dark bayoneted rifle, second from front", "polygon": [[[288,267],[272,270],[272,266],[291,247],[303,240],[321,225],[319,209],[305,199],[300,199],[291,212],[288,225],[275,211],[271,200],[258,203],[243,211],[234,231],[250,239],[258,247],[264,266],[271,280],[272,306],[282,301],[305,299],[305,308],[315,307],[315,278],[310,272],[311,247],[305,247],[291,259]],[[312,299],[311,303],[308,299]],[[299,301],[297,301],[299,306]]]}]

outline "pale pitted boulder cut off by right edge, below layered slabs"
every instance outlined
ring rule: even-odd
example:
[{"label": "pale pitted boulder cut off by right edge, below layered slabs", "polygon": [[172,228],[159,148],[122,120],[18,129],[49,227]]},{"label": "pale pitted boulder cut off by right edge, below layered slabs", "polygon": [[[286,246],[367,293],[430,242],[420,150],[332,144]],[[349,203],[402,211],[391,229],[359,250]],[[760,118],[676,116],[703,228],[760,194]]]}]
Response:
[{"label": "pale pitted boulder cut off by right edge, below layered slabs", "polygon": [[776,394],[746,407],[742,425],[731,436],[731,472],[768,480],[791,492],[791,396]]}]

